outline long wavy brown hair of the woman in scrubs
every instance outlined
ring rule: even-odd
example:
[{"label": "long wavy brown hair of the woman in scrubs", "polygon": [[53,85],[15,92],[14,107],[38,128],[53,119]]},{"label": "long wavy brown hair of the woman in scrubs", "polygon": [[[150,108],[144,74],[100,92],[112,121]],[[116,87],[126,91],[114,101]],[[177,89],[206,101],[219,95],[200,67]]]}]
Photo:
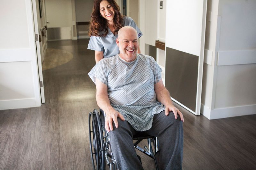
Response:
[{"label": "long wavy brown hair of the woman in scrubs", "polygon": [[[91,14],[91,21],[89,26],[89,36],[106,36],[108,34],[108,23],[107,20],[100,16],[100,2],[102,0],[94,0],[93,10]],[[113,26],[115,33],[123,27],[123,16],[120,13],[120,8],[116,4],[115,0],[107,0],[108,3],[114,8],[115,16],[113,18]],[[100,32],[103,31],[102,34]]]}]

